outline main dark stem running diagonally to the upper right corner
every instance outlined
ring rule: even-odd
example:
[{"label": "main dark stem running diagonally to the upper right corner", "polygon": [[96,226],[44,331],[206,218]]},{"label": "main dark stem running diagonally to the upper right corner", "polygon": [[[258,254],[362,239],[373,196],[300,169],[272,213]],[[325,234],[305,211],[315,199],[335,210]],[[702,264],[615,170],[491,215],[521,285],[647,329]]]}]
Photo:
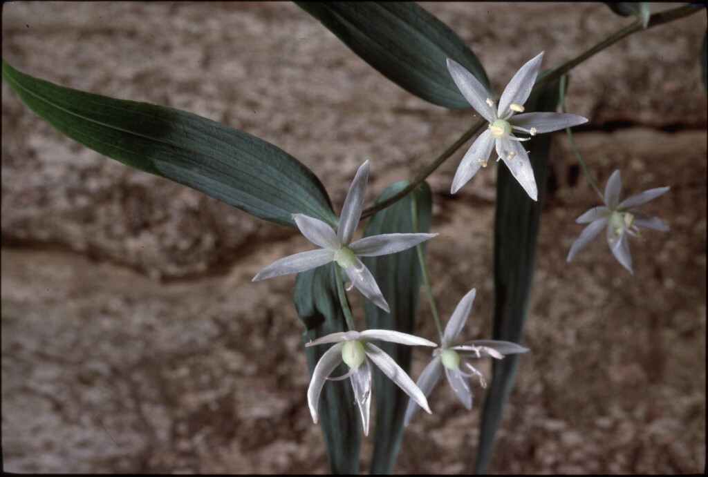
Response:
[{"label": "main dark stem running diagonally to the upper right corner", "polygon": [[[654,13],[652,16],[649,17],[649,24],[647,25],[646,30],[658,25],[662,25],[663,23],[668,23],[670,21],[678,20],[679,18],[689,16],[692,13],[700,11],[701,8],[702,5],[687,5],[678,8],[673,8],[673,10]],[[642,29],[643,28],[641,24],[641,19],[636,20],[636,22],[632,23],[632,25],[622,28],[622,30],[619,30],[614,35],[610,35],[610,37],[607,37],[605,40],[599,42],[597,45],[588,49],[588,51],[576,57],[575,59],[571,59],[570,61],[561,64],[561,66],[552,69],[542,78],[537,78],[533,89],[536,90],[540,86],[543,86],[544,84],[549,83],[550,81],[553,81],[556,78],[560,78],[568,71],[571,71],[571,69],[573,69],[575,66],[578,66],[578,64],[581,64],[586,59],[592,57],[594,54],[601,52],[603,49],[609,47],[610,45],[614,45],[619,40],[622,40],[622,38],[627,37],[628,35],[631,35],[632,33],[636,32],[637,30]],[[442,165],[442,163],[449,159],[450,156],[462,146],[462,144],[464,144],[465,142],[467,142],[468,139],[474,136],[476,131],[478,131],[483,124],[484,119],[480,119],[478,122],[476,122],[474,126],[465,131],[464,134],[462,134],[462,136],[460,136],[459,139],[457,139],[457,141],[452,144],[452,146],[447,148],[444,153],[439,155],[438,158],[433,161],[432,164],[426,167],[426,170],[423,170],[423,172],[418,174],[408,187],[401,190],[401,192],[399,192],[398,194],[394,194],[393,196],[389,197],[389,199],[381,201],[379,204],[375,204],[373,206],[365,208],[361,214],[361,218],[367,218],[368,216],[371,216],[374,213],[377,213],[378,211],[387,208],[388,206],[395,204],[397,201],[403,199],[413,189],[418,187],[418,184],[421,184],[421,182],[427,179],[430,174],[432,174],[438,167],[440,167],[440,165]]]}]

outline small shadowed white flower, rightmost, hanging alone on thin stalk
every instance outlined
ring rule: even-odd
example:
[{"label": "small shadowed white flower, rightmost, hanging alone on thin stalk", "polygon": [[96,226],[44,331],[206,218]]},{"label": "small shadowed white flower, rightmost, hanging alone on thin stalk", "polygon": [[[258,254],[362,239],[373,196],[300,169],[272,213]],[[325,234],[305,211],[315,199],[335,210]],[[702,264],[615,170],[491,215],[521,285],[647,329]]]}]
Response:
[{"label": "small shadowed white flower, rightmost, hanging alone on thin stalk", "polygon": [[581,232],[578,240],[571,245],[568,252],[567,261],[571,261],[580,250],[588,245],[590,240],[593,240],[600,230],[606,228],[605,235],[607,237],[607,245],[610,245],[612,254],[625,269],[632,271],[632,255],[629,254],[629,240],[627,235],[641,238],[639,227],[650,228],[653,230],[661,230],[666,232],[668,225],[658,217],[649,217],[646,213],[636,209],[636,206],[641,206],[651,199],[666,194],[669,187],[656,187],[649,189],[639,194],[634,194],[622,202],[619,201],[619,192],[622,189],[622,177],[619,175],[619,170],[615,170],[607,179],[605,186],[605,205],[593,207],[582,216],[576,218],[576,223],[589,223],[583,232]]}]

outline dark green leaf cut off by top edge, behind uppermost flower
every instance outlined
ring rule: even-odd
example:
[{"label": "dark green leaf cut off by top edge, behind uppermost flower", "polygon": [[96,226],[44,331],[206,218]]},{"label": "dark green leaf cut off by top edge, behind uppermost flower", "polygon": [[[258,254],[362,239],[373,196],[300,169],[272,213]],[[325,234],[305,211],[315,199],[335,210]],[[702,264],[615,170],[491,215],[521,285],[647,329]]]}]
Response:
[{"label": "dark green leaf cut off by top edge, behind uppermost flower", "polygon": [[445,107],[470,107],[447,71],[447,58],[467,68],[492,94],[472,50],[421,6],[368,1],[295,4],[389,80],[423,100]]}]

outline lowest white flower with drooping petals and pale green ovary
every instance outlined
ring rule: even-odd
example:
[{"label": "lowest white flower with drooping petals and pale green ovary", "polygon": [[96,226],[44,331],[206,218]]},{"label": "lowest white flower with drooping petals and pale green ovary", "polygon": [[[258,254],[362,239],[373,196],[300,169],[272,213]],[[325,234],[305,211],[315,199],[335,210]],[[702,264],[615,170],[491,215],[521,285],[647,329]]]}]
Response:
[{"label": "lowest white flower with drooping petals and pale green ovary", "polygon": [[[401,343],[412,346],[438,346],[433,341],[418,338],[411,334],[400,333],[399,331],[389,331],[385,329],[367,329],[359,333],[358,331],[343,331],[340,333],[328,334],[314,341],[310,341],[305,346],[315,346],[322,343],[335,343],[329,348],[314,368],[312,381],[307,389],[307,404],[309,404],[312,420],[317,423],[317,404],[319,395],[326,380],[339,381],[349,378],[354,388],[356,404],[359,406],[361,421],[364,426],[364,435],[369,435],[369,409],[371,404],[371,363],[379,367],[384,375],[387,375],[393,382],[406,391],[411,399],[418,403],[423,409],[430,413],[428,400],[420,389],[416,386],[404,370],[396,364],[393,358],[384,353],[378,346],[369,343],[370,340],[379,339],[392,343]],[[340,377],[329,377],[334,369],[344,361],[349,367],[349,372]]]}]

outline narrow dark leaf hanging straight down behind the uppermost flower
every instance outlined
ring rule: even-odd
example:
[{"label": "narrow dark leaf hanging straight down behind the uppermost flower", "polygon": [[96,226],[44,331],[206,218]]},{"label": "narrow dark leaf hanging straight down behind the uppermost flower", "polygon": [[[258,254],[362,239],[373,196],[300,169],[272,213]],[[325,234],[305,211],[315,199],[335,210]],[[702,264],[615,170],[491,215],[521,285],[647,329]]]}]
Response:
[{"label": "narrow dark leaf hanging straight down behind the uppermost flower", "polygon": [[[525,103],[526,110],[555,111],[559,81],[556,79],[532,94]],[[531,294],[551,135],[539,134],[525,144],[531,151],[529,159],[539,191],[537,202],[529,198],[507,167],[497,167],[492,337],[513,343],[521,343]],[[520,355],[510,355],[503,360],[493,360],[493,379],[481,416],[475,473],[484,473],[489,463],[519,358]]]}]

